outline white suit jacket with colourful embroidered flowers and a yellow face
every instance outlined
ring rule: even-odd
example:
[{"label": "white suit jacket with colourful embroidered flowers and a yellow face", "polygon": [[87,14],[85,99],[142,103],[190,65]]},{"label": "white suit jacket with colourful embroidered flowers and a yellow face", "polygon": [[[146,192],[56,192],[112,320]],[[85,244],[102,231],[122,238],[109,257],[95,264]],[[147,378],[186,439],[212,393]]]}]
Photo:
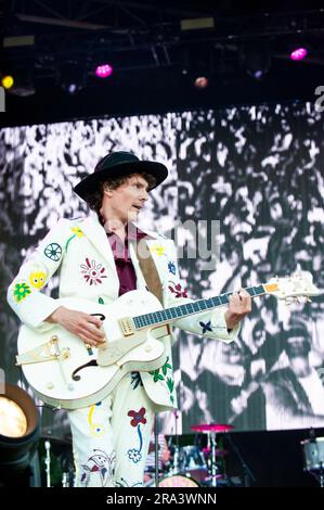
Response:
[{"label": "white suit jacket with colourful embroidered flowers and a yellow face", "polygon": [[[184,296],[177,264],[173,241],[147,232],[147,245],[161,281],[164,306],[177,306],[192,299]],[[144,290],[146,282],[139,267],[133,247],[130,256],[137,275],[137,288]],[[40,242],[26,260],[8,290],[8,302],[27,326],[46,331],[53,324],[46,322],[59,306],[41,292],[52,275],[60,271],[60,297],[77,297],[111,304],[118,297],[119,279],[114,255],[104,228],[93,215],[67,220],[62,218]],[[191,317],[178,319],[173,326],[202,336],[233,341],[238,328],[230,333],[226,329],[224,309],[217,308]],[[164,337],[168,361],[154,372],[141,372],[145,391],[157,405],[157,410],[177,407],[171,356],[172,332]],[[216,360],[217,362],[217,360]]]}]

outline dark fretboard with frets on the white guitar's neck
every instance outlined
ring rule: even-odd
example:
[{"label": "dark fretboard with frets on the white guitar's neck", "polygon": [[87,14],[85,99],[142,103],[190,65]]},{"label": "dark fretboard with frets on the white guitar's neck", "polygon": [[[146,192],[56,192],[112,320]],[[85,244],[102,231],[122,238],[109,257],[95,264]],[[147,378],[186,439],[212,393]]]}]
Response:
[{"label": "dark fretboard with frets on the white guitar's neck", "polygon": [[[263,285],[248,286],[245,290],[251,297],[265,294]],[[220,294],[219,296],[208,297],[208,299],[198,299],[194,303],[187,303],[185,305],[173,306],[171,308],[165,308],[164,310],[140,315],[133,317],[133,322],[137,329],[146,328],[147,326],[156,326],[164,322],[172,322],[176,319],[198,314],[199,311],[206,311],[211,308],[217,308],[218,306],[228,305],[229,298],[232,294],[234,294],[234,292],[228,292],[226,294]]]}]

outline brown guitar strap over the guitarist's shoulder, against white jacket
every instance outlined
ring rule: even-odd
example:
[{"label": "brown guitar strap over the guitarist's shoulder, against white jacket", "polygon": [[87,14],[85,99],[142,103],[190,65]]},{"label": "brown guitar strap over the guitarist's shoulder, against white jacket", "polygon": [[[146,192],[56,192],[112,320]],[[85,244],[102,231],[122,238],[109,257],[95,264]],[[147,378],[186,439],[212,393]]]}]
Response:
[{"label": "brown guitar strap over the guitarist's shoulder, against white jacket", "polygon": [[152,294],[154,294],[163,305],[164,301],[160,279],[146,241],[141,239],[140,242],[134,243],[134,250],[148,291],[152,292]]}]

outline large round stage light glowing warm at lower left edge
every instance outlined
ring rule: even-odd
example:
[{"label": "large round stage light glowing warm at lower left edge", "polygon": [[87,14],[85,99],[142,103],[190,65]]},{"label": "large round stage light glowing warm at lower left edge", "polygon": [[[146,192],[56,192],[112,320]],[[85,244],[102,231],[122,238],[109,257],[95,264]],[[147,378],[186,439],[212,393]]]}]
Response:
[{"label": "large round stage light glowing warm at lower left edge", "polygon": [[[0,487],[30,485],[40,425],[37,408],[21,387],[5,383],[0,395]],[[33,470],[34,466],[34,470]],[[26,477],[30,479],[26,482]]]}]

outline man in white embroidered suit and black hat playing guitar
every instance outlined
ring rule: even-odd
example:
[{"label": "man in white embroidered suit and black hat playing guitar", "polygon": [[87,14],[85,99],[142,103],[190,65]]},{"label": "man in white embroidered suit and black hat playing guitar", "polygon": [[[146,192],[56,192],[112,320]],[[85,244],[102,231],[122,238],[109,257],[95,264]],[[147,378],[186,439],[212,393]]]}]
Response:
[{"label": "man in white embroidered suit and black hat playing guitar", "polygon": [[[231,342],[251,309],[251,298],[244,290],[229,297],[225,309],[195,308],[180,281],[173,242],[134,226],[150,191],[167,176],[160,163],[140,161],[128,152],[107,154],[75,188],[92,209],[90,216],[61,219],[23,264],[8,292],[11,307],[25,324],[24,334],[30,336],[28,345],[20,348],[18,364],[29,382],[39,371],[39,381],[31,385],[44,401],[68,409],[79,486],[143,485],[154,415],[177,407],[172,330],[167,322]],[[159,298],[147,292],[137,248],[142,240],[154,263],[146,272],[158,276]],[[55,272],[60,275],[59,299],[40,292]],[[146,294],[151,296],[148,307]],[[87,301],[90,308],[67,305],[74,299]],[[191,315],[179,306],[182,304],[191,307]],[[105,314],[98,311],[105,306]],[[53,335],[52,331],[60,333]],[[64,332],[68,348],[62,348]],[[50,340],[41,336],[46,341],[31,349],[35,333],[50,333]],[[146,343],[147,336],[152,345]],[[116,342],[112,342],[114,337]],[[150,352],[156,344],[160,353],[150,365]],[[82,361],[67,370],[78,356]],[[128,362],[125,372],[122,356]],[[56,379],[51,379],[51,369],[57,371]],[[108,371],[113,373],[111,385],[102,384],[101,378]],[[60,384],[66,396],[59,398]]]}]

